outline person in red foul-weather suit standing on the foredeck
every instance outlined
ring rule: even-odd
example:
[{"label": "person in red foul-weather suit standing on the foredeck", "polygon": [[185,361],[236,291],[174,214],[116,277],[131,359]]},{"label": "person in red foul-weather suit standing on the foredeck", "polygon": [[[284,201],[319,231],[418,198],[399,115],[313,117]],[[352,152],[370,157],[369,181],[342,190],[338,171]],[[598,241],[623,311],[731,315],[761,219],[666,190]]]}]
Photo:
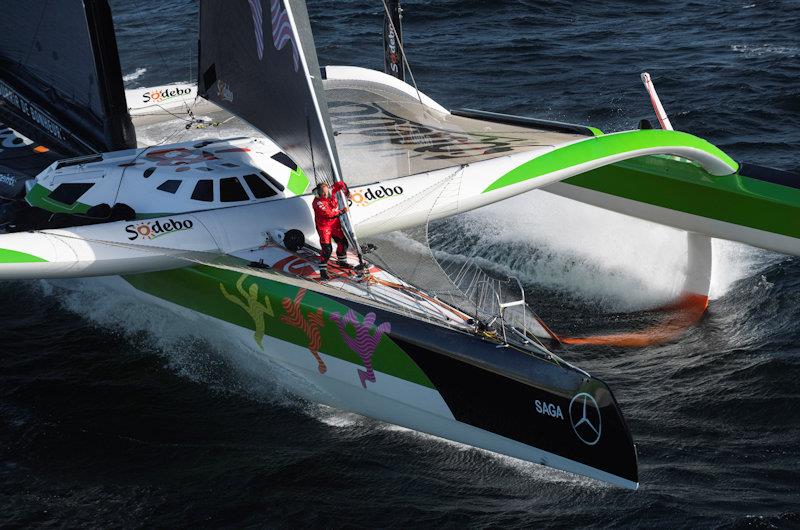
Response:
[{"label": "person in red foul-weather suit standing on the foredeck", "polygon": [[337,182],[331,188],[325,182],[317,185],[314,193],[317,196],[312,203],[314,208],[314,223],[317,226],[317,233],[319,234],[319,242],[322,247],[320,252],[320,266],[319,276],[321,280],[327,280],[328,276],[328,260],[333,252],[333,245],[331,238],[336,241],[336,261],[337,265],[342,268],[349,269],[350,265],[347,263],[347,239],[342,230],[342,222],[339,219],[348,208],[339,208],[339,202],[336,200],[336,194],[343,191],[345,195],[350,196],[350,191],[345,186],[344,182]]}]

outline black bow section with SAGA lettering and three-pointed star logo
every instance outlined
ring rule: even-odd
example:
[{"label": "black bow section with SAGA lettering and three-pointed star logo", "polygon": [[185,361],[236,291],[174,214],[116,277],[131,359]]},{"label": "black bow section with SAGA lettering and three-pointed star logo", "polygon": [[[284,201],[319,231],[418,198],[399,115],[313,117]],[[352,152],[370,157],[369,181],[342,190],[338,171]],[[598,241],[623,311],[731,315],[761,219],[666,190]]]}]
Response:
[{"label": "black bow section with SAGA lettering and three-pointed star logo", "polygon": [[[636,447],[603,381],[544,354],[342,303],[392,323],[392,340],[425,372],[458,421],[602,472],[583,474],[638,484]],[[542,456],[537,462],[568,467],[556,460]]]}]

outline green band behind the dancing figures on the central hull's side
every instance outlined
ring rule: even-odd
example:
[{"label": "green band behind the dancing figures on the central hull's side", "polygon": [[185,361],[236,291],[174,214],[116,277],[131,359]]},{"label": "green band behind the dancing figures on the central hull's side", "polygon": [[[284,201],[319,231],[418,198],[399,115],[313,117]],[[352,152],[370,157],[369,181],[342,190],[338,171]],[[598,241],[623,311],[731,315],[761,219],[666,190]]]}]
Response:
[{"label": "green band behind the dancing figures on the central hull's side", "polygon": [[[349,308],[319,293],[307,291],[303,294],[292,285],[202,265],[123,278],[140,291],[253,330],[253,338],[258,346],[261,346],[261,339],[266,335],[305,348],[310,346],[309,334],[287,323],[292,315],[291,303],[297,300],[299,293],[303,321],[313,322],[319,318],[321,323],[318,328],[320,342],[316,345],[318,352],[355,365],[364,364],[359,354],[345,343],[339,327],[331,319],[332,314],[337,314],[342,320],[341,317],[347,314]],[[364,317],[357,315],[359,322],[364,322]],[[376,333],[378,324],[376,322],[371,326],[370,335]],[[353,337],[353,326],[349,325],[346,329]],[[311,355],[309,353],[309,358]],[[416,363],[387,335],[380,337],[371,362],[377,372],[435,388]]]}]

